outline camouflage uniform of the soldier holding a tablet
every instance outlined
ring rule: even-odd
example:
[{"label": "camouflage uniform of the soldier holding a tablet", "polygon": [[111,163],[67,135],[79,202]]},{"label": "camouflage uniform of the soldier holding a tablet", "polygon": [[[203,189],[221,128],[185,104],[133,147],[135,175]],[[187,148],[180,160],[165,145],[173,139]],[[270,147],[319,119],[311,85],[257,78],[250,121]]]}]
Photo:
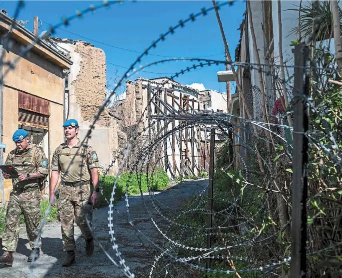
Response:
[{"label": "camouflage uniform of the soldier holding a tablet", "polygon": [[[14,149],[6,159],[18,173],[33,174],[40,172],[44,177],[48,174],[48,161],[44,151],[37,145],[30,145],[27,149],[19,151]],[[42,179],[40,179],[41,181]],[[25,180],[20,182],[12,179],[13,189],[9,195],[6,211],[6,226],[2,236],[2,249],[15,252],[19,238],[20,215],[23,214],[26,225],[27,238],[31,249],[37,239],[40,223],[40,190],[39,180]],[[40,249],[41,239],[36,248]]]}]

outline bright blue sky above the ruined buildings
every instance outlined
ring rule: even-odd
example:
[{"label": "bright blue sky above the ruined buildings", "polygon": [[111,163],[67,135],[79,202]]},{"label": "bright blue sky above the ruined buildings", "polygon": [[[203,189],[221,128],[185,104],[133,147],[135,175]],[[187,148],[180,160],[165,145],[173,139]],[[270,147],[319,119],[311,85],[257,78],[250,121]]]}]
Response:
[{"label": "bright blue sky above the ruined buildings", "polygon": [[[33,16],[37,15],[42,21],[42,24],[39,22],[39,33],[41,33],[47,29],[48,24],[46,23],[54,25],[61,21],[62,16],[70,16],[77,9],[83,10],[90,4],[97,5],[101,1],[25,1],[24,3],[18,19],[28,20],[24,26],[32,31]],[[0,8],[5,9],[9,16],[13,16],[16,4],[17,1],[1,1]],[[161,33],[167,31],[170,26],[178,24],[180,19],[186,19],[191,13],[197,13],[203,7],[211,6],[212,1],[207,0],[123,1],[122,4],[113,4],[108,9],[102,8],[96,10],[95,13],[88,13],[83,19],[76,18],[70,22],[69,26],[56,29],[53,36],[82,39],[103,49],[106,54],[107,79],[109,79],[114,77],[116,69],[121,76],[126,70],[123,67],[129,67],[139,55],[139,53],[112,46],[142,52]],[[245,10],[245,1],[235,1],[233,5],[225,5],[219,10],[233,59],[240,36],[240,30],[237,29],[242,22]],[[206,16],[198,17],[194,22],[189,22],[184,28],[177,29],[173,35],[166,37],[165,41],[158,44],[151,53],[171,58],[218,54],[206,58],[223,60],[224,45],[214,10]],[[147,62],[161,59],[165,59],[165,57],[148,55],[145,56],[141,64],[145,65]],[[193,62],[183,61],[164,63],[146,69],[146,71],[154,73],[139,72],[130,79],[171,76],[192,64]],[[225,83],[219,83],[216,75],[217,71],[224,69],[224,65],[212,65],[181,75],[175,80],[182,84],[203,83],[206,89],[225,92]]]}]

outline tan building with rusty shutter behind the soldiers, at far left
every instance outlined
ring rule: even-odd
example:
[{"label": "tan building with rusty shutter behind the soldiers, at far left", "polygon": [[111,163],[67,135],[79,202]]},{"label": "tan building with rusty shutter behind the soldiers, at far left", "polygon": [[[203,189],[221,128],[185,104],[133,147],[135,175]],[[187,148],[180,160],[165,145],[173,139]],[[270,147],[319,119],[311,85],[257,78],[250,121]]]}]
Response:
[{"label": "tan building with rusty shutter behind the soldiers, at far left", "polygon": [[[14,23],[4,10],[0,11],[1,72],[4,74],[0,84],[0,143],[5,144],[0,152],[1,162],[15,148],[12,135],[18,128],[27,130],[33,143],[44,149],[51,162],[53,151],[63,141],[63,70],[69,69],[72,61],[44,40],[35,44],[36,36]],[[12,30],[8,33],[10,26]],[[6,35],[9,44],[3,43]],[[33,47],[29,55],[24,55],[22,47],[30,44]],[[14,61],[14,68],[10,69],[8,63]],[[3,180],[2,174],[0,183],[0,194],[6,201],[12,183]]]}]

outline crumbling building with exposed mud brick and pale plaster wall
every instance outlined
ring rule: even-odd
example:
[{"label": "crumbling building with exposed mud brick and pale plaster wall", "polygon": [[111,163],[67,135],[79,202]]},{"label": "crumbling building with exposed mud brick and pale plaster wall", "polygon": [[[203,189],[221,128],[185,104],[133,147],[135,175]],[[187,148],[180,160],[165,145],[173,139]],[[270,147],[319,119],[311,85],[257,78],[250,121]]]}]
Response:
[{"label": "crumbling building with exposed mud brick and pale plaster wall", "polygon": [[[74,118],[84,139],[106,97],[106,57],[102,49],[79,40],[52,38],[73,61],[65,79],[64,118]],[[104,110],[95,124],[88,143],[96,150],[101,167],[111,165],[117,149],[117,122]],[[115,172],[116,164],[109,167]]]}]

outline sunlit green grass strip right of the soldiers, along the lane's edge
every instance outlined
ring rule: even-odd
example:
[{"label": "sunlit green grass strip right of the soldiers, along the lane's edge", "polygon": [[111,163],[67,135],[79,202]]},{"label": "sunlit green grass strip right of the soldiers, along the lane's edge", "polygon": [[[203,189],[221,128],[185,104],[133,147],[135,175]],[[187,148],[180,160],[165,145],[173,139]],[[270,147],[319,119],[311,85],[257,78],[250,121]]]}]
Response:
[{"label": "sunlit green grass strip right of the soldiers, along the lane's edge", "polygon": [[[113,184],[115,182],[115,176],[105,176],[100,177],[100,184],[102,186],[103,195],[100,195],[99,202],[96,207],[104,207],[107,206],[107,202],[105,198],[109,200],[111,198],[111,193],[113,189]],[[170,183],[170,179],[167,176],[167,173],[163,169],[156,169],[151,176],[150,174],[132,174],[123,173],[120,175],[119,180],[117,182],[117,188],[115,190],[114,201],[117,202],[121,199],[122,196],[125,195],[126,186],[128,184],[128,195],[139,195],[141,185],[142,192],[148,192],[149,185],[150,189],[154,191],[162,190],[168,187]],[[105,197],[105,198],[104,198]]]}]

